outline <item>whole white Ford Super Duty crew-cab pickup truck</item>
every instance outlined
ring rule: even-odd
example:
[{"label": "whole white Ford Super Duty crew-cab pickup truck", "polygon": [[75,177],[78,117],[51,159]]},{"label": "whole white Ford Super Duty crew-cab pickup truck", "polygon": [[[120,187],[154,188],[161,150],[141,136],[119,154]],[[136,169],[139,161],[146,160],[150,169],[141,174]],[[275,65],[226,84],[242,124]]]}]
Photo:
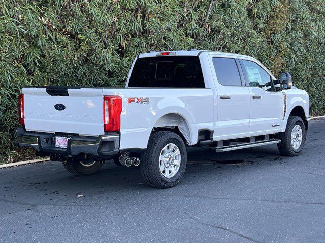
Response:
[{"label": "whole white Ford Super Duty crew-cab pickup truck", "polygon": [[138,166],[148,184],[176,185],[186,147],[216,152],[277,144],[296,156],[309,129],[309,96],[256,59],[231,53],[140,54],[125,88],[24,87],[17,142],[76,175],[104,161]]}]

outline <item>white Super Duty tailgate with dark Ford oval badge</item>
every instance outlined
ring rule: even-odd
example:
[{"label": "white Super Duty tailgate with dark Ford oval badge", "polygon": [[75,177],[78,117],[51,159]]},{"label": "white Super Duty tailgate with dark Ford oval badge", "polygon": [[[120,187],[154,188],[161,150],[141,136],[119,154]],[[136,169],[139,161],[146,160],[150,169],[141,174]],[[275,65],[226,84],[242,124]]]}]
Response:
[{"label": "white Super Duty tailgate with dark Ford oval badge", "polygon": [[27,131],[104,134],[103,89],[30,87],[22,93]]}]

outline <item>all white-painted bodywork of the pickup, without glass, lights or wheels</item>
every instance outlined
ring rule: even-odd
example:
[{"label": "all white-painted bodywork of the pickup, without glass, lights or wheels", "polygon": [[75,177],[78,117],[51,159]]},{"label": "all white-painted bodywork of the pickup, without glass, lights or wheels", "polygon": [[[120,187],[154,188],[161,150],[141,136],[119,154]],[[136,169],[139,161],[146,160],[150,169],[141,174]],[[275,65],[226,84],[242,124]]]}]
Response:
[{"label": "all white-painted bodywork of the pickup, without glass, lights or wheels", "polygon": [[[179,56],[198,56],[200,53],[176,51]],[[154,56],[156,53],[145,53],[138,58]],[[301,106],[309,117],[309,96],[305,91],[293,88],[268,92],[259,87],[222,86],[213,69],[212,57],[254,61],[275,79],[252,57],[206,51],[199,55],[206,88],[81,88],[68,89],[69,96],[51,96],[45,88],[23,88],[25,129],[103,135],[103,96],[106,95],[122,98],[120,149],[145,149],[155,127],[179,126],[188,144],[195,145],[201,129],[212,131],[212,140],[218,141],[284,132],[288,115],[296,106]],[[287,97],[284,118],[283,92]],[[254,95],[262,98],[254,100]],[[220,99],[221,96],[231,96],[231,99]],[[129,98],[136,97],[148,98],[148,102],[128,103]],[[64,104],[66,109],[55,110],[54,105],[58,103]],[[168,114],[173,115],[167,119]]]}]

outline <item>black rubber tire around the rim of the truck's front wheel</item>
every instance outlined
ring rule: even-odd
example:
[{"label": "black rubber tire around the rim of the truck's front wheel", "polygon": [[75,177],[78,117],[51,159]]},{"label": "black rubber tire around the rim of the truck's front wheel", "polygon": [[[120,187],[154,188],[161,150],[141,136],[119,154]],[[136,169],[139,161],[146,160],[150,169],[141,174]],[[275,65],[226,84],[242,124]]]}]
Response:
[{"label": "black rubber tire around the rim of the truck's front wheel", "polygon": [[[296,125],[301,127],[303,136],[301,145],[297,149],[291,144],[291,133]],[[280,134],[279,139],[281,142],[278,143],[278,149],[282,155],[297,156],[303,150],[306,141],[306,128],[303,120],[299,116],[289,116],[285,132]]]}]

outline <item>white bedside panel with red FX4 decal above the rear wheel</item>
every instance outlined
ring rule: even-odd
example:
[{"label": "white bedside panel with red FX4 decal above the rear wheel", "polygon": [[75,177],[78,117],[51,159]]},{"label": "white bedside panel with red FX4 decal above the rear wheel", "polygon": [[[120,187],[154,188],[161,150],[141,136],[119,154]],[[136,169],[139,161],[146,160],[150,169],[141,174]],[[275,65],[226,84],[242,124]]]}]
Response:
[{"label": "white bedside panel with red FX4 decal above the rear wheel", "polygon": [[[166,114],[184,118],[190,129],[189,145],[197,143],[199,129],[213,130],[213,93],[208,88],[103,89],[103,94],[122,97],[120,149],[146,148],[157,120]],[[141,97],[148,102],[136,102]]]}]

